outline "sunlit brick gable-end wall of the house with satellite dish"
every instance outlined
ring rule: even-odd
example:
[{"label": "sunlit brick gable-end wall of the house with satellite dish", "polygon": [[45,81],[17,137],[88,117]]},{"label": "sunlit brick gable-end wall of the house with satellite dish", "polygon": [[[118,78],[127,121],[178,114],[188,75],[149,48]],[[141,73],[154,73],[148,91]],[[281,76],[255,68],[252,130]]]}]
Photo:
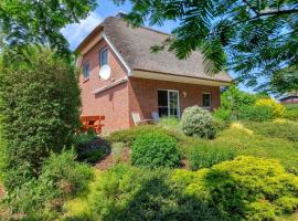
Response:
[{"label": "sunlit brick gable-end wall of the house with satellite dish", "polygon": [[[111,77],[110,80],[102,81],[98,77],[100,69],[99,51],[105,46],[108,49],[108,64],[111,70]],[[110,84],[113,82],[111,78],[117,81],[125,77],[125,67],[104,40],[97,43],[83,56],[82,65],[87,61],[91,65],[89,80],[85,80],[83,73],[79,75],[79,86],[82,90],[82,115],[105,115],[104,133],[127,128],[129,126],[127,83],[123,83],[98,94],[93,93],[93,91]]]}]

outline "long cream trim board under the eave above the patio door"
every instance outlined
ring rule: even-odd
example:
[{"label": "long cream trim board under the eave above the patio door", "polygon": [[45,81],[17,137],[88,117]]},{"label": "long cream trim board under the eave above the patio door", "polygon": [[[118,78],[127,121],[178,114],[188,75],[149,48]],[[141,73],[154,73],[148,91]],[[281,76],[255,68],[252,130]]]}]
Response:
[{"label": "long cream trim board under the eave above the patio door", "polygon": [[149,78],[149,80],[160,80],[168,82],[179,82],[179,83],[188,83],[188,84],[200,84],[200,85],[209,85],[209,86],[228,86],[232,85],[232,82],[222,82],[216,80],[204,80],[196,78],[192,76],[178,76],[172,74],[164,74],[158,72],[149,72],[149,71],[134,71],[131,76],[139,78]]}]

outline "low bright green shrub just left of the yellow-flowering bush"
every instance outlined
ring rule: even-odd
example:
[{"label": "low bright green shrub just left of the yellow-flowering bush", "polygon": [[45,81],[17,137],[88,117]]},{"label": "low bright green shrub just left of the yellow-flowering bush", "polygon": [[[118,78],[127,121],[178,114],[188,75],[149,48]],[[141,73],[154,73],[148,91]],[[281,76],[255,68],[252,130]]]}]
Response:
[{"label": "low bright green shrub just left of the yellow-flowering bush", "polygon": [[237,118],[241,120],[266,122],[274,118],[273,109],[268,106],[243,106]]}]

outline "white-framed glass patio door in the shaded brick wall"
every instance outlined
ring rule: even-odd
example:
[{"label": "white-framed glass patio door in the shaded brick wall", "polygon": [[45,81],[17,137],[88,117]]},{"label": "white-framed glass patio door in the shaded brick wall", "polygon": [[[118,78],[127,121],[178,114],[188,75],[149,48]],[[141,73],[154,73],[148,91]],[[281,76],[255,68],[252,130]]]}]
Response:
[{"label": "white-framed glass patio door in the shaded brick wall", "polygon": [[160,117],[180,117],[179,92],[178,91],[158,91],[158,112]]}]

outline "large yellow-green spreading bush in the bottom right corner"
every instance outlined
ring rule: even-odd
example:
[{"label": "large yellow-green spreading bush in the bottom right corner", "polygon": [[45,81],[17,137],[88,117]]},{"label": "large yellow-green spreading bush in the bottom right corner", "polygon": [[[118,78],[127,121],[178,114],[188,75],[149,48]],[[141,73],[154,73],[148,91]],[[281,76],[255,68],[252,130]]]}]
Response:
[{"label": "large yellow-green spreading bush in the bottom right corner", "polygon": [[172,180],[216,208],[219,220],[273,220],[298,207],[298,177],[276,160],[237,157],[211,169],[177,170]]}]

